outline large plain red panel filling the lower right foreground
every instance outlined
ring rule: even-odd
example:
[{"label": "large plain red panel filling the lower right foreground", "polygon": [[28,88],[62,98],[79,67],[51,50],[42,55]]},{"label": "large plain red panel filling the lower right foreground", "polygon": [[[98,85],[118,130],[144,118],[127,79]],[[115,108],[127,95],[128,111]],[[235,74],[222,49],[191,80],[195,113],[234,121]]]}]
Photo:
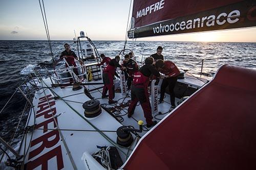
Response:
[{"label": "large plain red panel filling the lower right foreground", "polygon": [[256,169],[256,70],[224,65],[140,142],[124,169]]}]

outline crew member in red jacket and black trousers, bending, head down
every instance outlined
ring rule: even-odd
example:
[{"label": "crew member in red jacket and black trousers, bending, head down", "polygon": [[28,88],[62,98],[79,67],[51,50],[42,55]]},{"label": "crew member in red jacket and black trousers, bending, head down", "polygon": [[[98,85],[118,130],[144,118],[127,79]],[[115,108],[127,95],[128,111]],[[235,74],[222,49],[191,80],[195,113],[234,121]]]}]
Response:
[{"label": "crew member in red jacket and black trousers, bending, head down", "polygon": [[165,76],[163,77],[164,79],[161,85],[159,103],[163,102],[165,88],[169,86],[168,88],[170,92],[170,104],[172,105],[169,110],[172,110],[176,107],[174,87],[177,82],[178,76],[180,75],[180,70],[172,61],[167,60],[167,61],[164,61],[163,63],[164,63],[164,66],[160,70],[160,72]]}]

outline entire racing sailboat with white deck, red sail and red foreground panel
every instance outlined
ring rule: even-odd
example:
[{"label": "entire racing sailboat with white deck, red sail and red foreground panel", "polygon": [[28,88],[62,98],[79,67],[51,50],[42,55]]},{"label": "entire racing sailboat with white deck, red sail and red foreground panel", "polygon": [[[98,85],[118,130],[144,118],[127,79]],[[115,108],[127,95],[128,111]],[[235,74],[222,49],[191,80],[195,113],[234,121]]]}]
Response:
[{"label": "entire racing sailboat with white deck, red sail and red foreground panel", "polygon": [[[127,36],[255,27],[255,4],[135,0]],[[80,38],[87,38],[100,60],[82,33],[78,49]],[[81,47],[78,52],[83,61]],[[189,97],[170,112],[168,102],[158,105],[159,84],[153,81],[152,114],[160,121],[146,128],[140,107],[132,118],[126,116],[131,98],[121,70],[114,81],[118,104],[101,98],[103,66],[98,62],[79,62],[79,75],[72,66],[54,68],[47,78],[34,70],[38,90],[33,101],[28,99],[24,137],[18,151],[1,139],[9,150],[3,162],[19,169],[255,169],[256,70],[225,64],[209,82],[185,74],[177,83],[176,101]],[[74,83],[62,76],[67,72]]]}]

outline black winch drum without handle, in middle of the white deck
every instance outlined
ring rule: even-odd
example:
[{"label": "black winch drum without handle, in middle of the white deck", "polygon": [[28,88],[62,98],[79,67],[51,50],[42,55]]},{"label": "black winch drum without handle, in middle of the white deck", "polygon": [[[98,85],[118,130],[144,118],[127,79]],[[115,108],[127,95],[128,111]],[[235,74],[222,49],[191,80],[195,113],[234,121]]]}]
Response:
[{"label": "black winch drum without handle, in middle of the white deck", "polygon": [[101,107],[99,106],[99,101],[98,100],[90,100],[85,102],[82,107],[84,109],[84,116],[88,118],[93,118],[98,116],[102,110]]}]

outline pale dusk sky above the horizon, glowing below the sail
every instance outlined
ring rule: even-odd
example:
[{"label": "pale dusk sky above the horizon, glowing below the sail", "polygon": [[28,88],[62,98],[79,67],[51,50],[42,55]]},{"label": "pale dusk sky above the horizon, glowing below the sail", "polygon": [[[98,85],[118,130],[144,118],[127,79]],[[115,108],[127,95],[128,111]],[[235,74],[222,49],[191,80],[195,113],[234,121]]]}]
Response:
[{"label": "pale dusk sky above the horizon, glowing below the sail", "polygon": [[[52,40],[84,31],[92,40],[124,40],[130,0],[45,0]],[[46,40],[37,0],[0,0],[0,40]],[[256,28],[140,38],[156,41],[256,42]]]}]

